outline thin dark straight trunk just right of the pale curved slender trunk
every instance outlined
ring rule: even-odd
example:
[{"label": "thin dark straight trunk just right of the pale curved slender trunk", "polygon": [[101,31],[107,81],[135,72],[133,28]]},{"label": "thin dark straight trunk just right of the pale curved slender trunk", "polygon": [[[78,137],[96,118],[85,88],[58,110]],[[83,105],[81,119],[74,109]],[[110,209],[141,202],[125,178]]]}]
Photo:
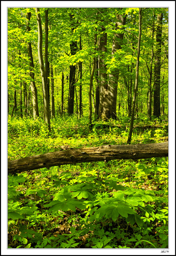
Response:
[{"label": "thin dark straight trunk just right of the pale curved slender trunk", "polygon": [[50,63],[48,62],[48,9],[45,10],[45,43],[44,43],[44,58],[45,58],[45,76],[47,81],[48,102],[50,107]]}]

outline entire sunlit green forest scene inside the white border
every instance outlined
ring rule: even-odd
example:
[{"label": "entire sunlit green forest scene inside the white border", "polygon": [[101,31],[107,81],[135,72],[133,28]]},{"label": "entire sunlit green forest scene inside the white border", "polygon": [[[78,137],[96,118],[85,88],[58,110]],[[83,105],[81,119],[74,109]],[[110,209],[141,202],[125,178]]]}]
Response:
[{"label": "entire sunlit green forest scene inside the white border", "polygon": [[168,248],[168,8],[8,8],[8,248]]}]

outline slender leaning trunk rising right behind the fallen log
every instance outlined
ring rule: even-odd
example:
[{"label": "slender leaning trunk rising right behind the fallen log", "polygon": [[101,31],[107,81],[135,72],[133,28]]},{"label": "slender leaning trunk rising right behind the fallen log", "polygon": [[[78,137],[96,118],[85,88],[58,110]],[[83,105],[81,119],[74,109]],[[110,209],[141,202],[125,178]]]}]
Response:
[{"label": "slender leaning trunk rising right behind the fallen log", "polygon": [[142,13],[142,8],[139,8],[139,37],[138,37],[138,53],[137,53],[137,61],[136,61],[136,77],[135,77],[135,86],[134,86],[134,94],[133,94],[133,101],[132,101],[132,115],[131,115],[130,131],[129,131],[129,135],[128,135],[127,144],[131,144],[133,123],[134,123],[136,94],[137,94],[137,89],[138,89],[140,40],[141,40],[141,33],[142,33],[142,24],[141,24],[142,23],[142,15],[141,15],[141,13]]}]

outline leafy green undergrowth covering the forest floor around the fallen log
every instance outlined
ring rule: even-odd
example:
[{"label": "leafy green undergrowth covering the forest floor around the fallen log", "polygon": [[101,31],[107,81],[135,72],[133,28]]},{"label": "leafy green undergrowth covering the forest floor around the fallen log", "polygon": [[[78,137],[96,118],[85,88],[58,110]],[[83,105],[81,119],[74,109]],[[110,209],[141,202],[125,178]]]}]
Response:
[{"label": "leafy green undergrowth covering the forest floor around the fallen log", "polygon": [[[164,142],[167,125],[135,120],[132,143]],[[42,119],[9,117],[8,159],[126,144],[129,122],[94,122],[90,130],[86,118],[65,116],[52,119],[51,128],[48,133]],[[8,247],[167,248],[168,158],[68,164],[9,174]]]}]

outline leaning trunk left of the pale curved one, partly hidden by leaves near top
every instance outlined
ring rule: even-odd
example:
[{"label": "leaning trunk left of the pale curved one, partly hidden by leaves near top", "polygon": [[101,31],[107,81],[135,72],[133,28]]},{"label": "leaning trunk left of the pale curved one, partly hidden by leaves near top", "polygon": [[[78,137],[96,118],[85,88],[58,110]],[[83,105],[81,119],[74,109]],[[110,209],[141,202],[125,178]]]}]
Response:
[{"label": "leaning trunk left of the pale curved one, partly hidden by leaves near top", "polygon": [[[29,21],[30,21],[30,17],[31,17],[31,12],[27,13],[27,29],[26,31],[29,32],[30,31],[30,26],[29,26]],[[38,111],[38,99],[37,99],[37,89],[36,89],[36,84],[34,81],[34,62],[33,62],[33,57],[32,57],[32,47],[31,47],[31,42],[28,41],[27,43],[27,50],[28,50],[28,57],[30,60],[30,71],[29,71],[29,75],[32,78],[30,84],[31,84],[31,91],[32,91],[32,101],[33,101],[33,116],[34,119],[36,118],[36,116],[39,116],[39,111]]]}]

